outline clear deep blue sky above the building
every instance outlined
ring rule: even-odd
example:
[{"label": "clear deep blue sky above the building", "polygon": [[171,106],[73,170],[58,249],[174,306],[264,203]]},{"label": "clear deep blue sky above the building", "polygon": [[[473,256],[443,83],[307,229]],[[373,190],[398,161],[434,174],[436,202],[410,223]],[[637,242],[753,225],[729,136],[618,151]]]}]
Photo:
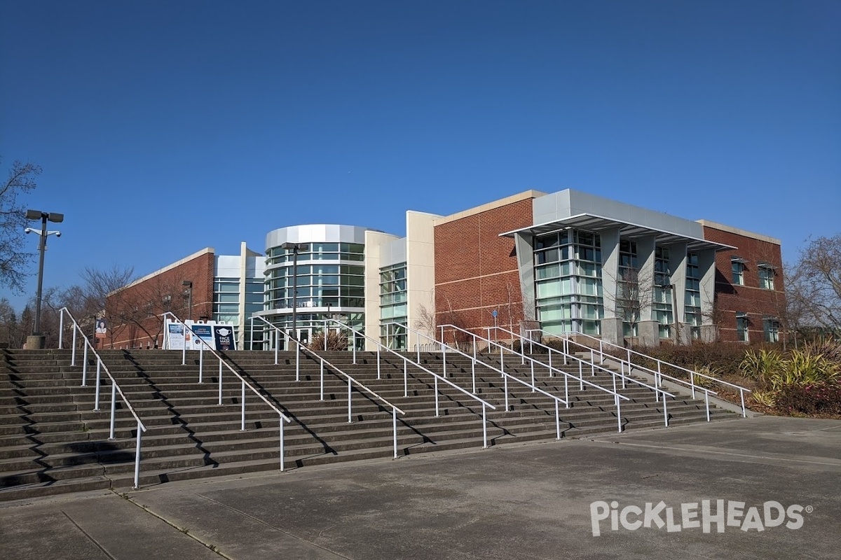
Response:
[{"label": "clear deep blue sky above the building", "polygon": [[531,188],[791,260],[841,230],[838,29],[836,0],[2,0],[0,154],[41,165],[27,203],[66,216],[45,286]]}]

